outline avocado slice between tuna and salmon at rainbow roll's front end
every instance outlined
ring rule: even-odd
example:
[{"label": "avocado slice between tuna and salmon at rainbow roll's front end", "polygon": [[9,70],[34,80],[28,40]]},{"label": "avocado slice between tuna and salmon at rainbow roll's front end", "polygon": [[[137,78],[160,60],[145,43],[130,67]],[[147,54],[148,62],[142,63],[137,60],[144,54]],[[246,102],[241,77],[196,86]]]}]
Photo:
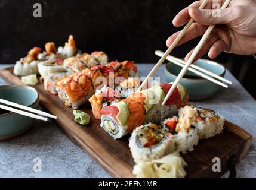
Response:
[{"label": "avocado slice between tuna and salmon at rainbow roll's front end", "polygon": [[120,101],[118,103],[113,103],[113,106],[116,106],[119,110],[118,115],[116,115],[116,119],[120,125],[124,126],[129,118],[129,109],[127,103]]}]

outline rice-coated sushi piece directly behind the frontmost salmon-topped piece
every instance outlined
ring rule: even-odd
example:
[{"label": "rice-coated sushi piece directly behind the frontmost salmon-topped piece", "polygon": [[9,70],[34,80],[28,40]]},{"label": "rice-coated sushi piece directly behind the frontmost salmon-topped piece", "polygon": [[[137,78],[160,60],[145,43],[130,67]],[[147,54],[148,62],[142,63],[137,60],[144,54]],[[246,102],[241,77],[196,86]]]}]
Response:
[{"label": "rice-coated sushi piece directly behind the frontmost salmon-topped piece", "polygon": [[47,75],[44,80],[44,90],[50,94],[57,94],[55,84],[63,78],[69,77],[67,72],[57,72]]}]

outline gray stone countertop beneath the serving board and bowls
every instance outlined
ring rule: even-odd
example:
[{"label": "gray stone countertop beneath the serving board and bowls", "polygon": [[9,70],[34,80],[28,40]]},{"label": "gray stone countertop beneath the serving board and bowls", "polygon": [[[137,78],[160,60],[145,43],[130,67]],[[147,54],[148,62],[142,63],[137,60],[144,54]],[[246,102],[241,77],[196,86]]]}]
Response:
[{"label": "gray stone countertop beneath the serving board and bowls", "polygon": [[[11,65],[0,65],[6,68]],[[152,64],[138,64],[140,76],[146,76]],[[156,72],[164,78],[164,65]],[[220,112],[227,120],[242,126],[256,137],[256,102],[242,85],[233,81],[228,89],[221,88],[210,99],[192,102]],[[0,85],[6,83],[0,78]],[[41,108],[42,109],[42,108]],[[41,172],[33,169],[41,160]],[[248,155],[236,165],[238,178],[256,178],[256,148],[252,141]],[[36,171],[36,172],[35,172]],[[224,175],[224,177],[226,177]],[[0,178],[111,178],[81,148],[75,145],[54,122],[36,121],[33,128],[19,137],[0,141]]]}]

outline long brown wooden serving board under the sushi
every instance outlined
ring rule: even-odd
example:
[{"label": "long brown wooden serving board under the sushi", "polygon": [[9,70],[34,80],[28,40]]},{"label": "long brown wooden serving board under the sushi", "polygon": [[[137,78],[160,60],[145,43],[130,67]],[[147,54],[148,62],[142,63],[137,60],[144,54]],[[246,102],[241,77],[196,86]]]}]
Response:
[{"label": "long brown wooden serving board under the sushi", "polygon": [[[0,77],[10,84],[24,85],[20,77],[13,74],[13,68],[0,70]],[[58,116],[57,123],[64,133],[79,147],[85,150],[107,172],[116,178],[134,178],[134,161],[128,147],[129,135],[121,140],[114,140],[95,119],[89,104],[80,107],[91,116],[90,124],[82,126],[73,121],[72,109],[63,105],[57,96],[50,95],[42,84],[35,86],[40,103],[50,113]],[[238,125],[225,122],[224,131],[208,140],[200,140],[195,150],[181,154],[186,160],[187,178],[219,178],[227,172],[226,163],[235,156],[235,164],[248,153],[252,136]],[[221,160],[221,172],[212,172],[212,159]]]}]

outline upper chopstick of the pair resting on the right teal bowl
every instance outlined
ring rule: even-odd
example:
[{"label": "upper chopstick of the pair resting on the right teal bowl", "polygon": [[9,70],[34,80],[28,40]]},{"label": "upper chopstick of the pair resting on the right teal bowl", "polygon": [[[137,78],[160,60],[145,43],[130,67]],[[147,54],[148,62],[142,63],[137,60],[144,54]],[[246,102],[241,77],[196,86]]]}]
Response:
[{"label": "upper chopstick of the pair resting on the right teal bowl", "polygon": [[[162,51],[160,51],[160,50],[156,50],[156,51],[155,51],[155,55],[158,55],[159,57],[161,57],[161,56],[164,55],[164,52],[162,52]],[[166,57],[166,59],[167,59],[168,61],[173,62],[173,63],[176,64],[176,65],[179,65],[179,66],[181,66],[181,64],[182,64],[181,67],[183,67],[183,65],[186,64],[186,61],[184,61],[183,59],[179,59],[179,58],[176,58],[176,57],[171,56],[171,55],[168,55],[168,56]],[[178,62],[178,64],[177,64],[177,62]],[[191,64],[191,65],[189,66],[189,71],[193,72],[195,69],[190,69],[190,67],[195,68],[195,69],[198,69],[199,71],[205,72],[206,74],[211,75],[212,77],[218,78],[218,79],[221,80],[221,81],[224,81],[224,82],[226,82],[226,83],[232,84],[232,81],[229,81],[229,80],[227,80],[226,78],[221,77],[220,75],[217,75],[217,74],[215,74],[215,73],[213,73],[213,72],[211,72],[211,71],[208,71],[208,70],[206,70],[206,69],[204,69],[204,68],[201,68],[201,67],[198,66],[198,65],[193,65],[193,64]],[[193,71],[192,71],[192,70],[193,70]],[[202,76],[201,76],[201,77],[202,77]],[[203,78],[205,78],[205,77],[203,77]],[[207,79],[208,79],[208,78],[207,78]]]}]

